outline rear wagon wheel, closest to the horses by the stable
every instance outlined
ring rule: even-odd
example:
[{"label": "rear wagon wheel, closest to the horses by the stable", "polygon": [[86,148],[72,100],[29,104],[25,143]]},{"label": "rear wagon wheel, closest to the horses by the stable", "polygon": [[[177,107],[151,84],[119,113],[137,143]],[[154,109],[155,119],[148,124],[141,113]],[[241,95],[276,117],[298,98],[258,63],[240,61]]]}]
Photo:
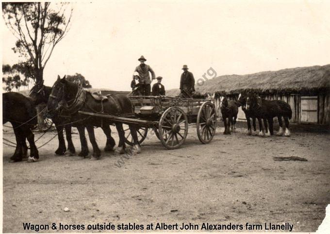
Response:
[{"label": "rear wagon wheel, closest to the horses by the stable", "polygon": [[216,129],[216,112],[214,104],[210,101],[204,102],[199,108],[196,129],[201,143],[211,142]]}]

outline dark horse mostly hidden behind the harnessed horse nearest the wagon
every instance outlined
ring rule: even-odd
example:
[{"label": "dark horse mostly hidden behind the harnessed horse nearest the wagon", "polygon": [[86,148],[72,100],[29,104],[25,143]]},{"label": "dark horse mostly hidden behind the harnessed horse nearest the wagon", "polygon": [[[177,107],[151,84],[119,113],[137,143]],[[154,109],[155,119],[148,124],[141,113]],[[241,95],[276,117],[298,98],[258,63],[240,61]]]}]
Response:
[{"label": "dark horse mostly hidden behind the harnessed horse nearest the wagon", "polygon": [[[35,105],[44,103],[47,104],[49,95],[51,92],[51,87],[45,86],[42,83],[35,84],[30,91],[30,98],[34,101]],[[58,136],[58,148],[55,150],[56,155],[64,155],[66,153],[66,142],[64,140],[63,129],[66,130],[66,141],[67,141],[67,150],[70,155],[74,155],[76,150],[74,148],[72,137],[71,137],[71,127],[69,118],[53,116],[51,118],[52,122],[55,124]]]}]

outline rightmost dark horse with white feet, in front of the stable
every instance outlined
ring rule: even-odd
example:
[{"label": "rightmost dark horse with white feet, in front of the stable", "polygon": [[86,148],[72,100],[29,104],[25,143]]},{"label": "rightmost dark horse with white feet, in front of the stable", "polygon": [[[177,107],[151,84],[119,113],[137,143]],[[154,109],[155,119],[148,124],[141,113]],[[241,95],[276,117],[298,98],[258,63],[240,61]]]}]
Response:
[{"label": "rightmost dark horse with white feet, in front of the stable", "polygon": [[[292,110],[288,103],[282,100],[265,100],[255,94],[247,97],[247,110],[252,110],[258,117],[264,119],[265,136],[274,134],[273,118],[277,117],[280,124],[280,129],[277,135],[290,136],[289,119],[292,117]],[[283,125],[282,117],[284,118],[285,125]],[[267,120],[269,123],[269,130],[267,127]],[[284,130],[285,129],[285,130]]]}]

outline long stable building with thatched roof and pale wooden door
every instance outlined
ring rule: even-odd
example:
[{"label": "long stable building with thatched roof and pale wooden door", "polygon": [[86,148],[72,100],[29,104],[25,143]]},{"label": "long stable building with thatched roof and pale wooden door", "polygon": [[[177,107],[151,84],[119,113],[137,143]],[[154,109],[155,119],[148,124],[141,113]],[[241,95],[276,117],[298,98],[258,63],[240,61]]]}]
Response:
[{"label": "long stable building with thatched roof and pale wooden door", "polygon": [[[284,100],[292,109],[293,123],[330,124],[330,65],[296,67],[247,75],[224,75],[196,85],[201,94],[215,94],[220,112],[220,97],[237,100],[242,92],[254,91],[267,100]],[[176,96],[179,90],[168,90]],[[239,108],[238,120],[246,120]]]}]

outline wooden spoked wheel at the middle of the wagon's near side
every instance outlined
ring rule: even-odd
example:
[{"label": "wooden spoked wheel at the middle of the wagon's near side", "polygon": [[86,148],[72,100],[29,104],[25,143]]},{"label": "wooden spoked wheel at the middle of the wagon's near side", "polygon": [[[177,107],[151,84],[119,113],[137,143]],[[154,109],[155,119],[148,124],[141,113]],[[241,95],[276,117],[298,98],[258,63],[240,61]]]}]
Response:
[{"label": "wooden spoked wheel at the middle of the wagon's near side", "polygon": [[168,108],[158,124],[159,139],[169,150],[179,148],[188,134],[188,118],[177,106]]}]

